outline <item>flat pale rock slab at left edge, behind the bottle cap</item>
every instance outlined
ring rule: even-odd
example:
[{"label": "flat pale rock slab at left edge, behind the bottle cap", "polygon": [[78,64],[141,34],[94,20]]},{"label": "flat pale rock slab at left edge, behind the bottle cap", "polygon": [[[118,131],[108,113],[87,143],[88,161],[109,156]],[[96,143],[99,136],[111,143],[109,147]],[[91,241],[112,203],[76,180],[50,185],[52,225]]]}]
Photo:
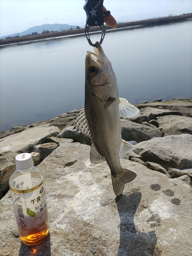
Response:
[{"label": "flat pale rock slab at left edge, behind the bottle cap", "polygon": [[23,132],[1,139],[0,152],[10,150],[18,154],[23,152],[31,153],[34,145],[44,143],[46,138],[57,136],[59,132],[58,127],[51,124],[26,129]]}]

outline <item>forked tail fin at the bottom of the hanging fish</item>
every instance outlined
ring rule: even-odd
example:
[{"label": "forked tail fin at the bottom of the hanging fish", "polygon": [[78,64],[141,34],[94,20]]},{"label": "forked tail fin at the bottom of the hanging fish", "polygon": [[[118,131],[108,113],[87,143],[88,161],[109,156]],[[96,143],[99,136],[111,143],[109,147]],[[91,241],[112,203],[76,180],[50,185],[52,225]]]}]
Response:
[{"label": "forked tail fin at the bottom of the hanging fish", "polygon": [[123,192],[124,184],[134,180],[136,176],[136,173],[127,169],[123,169],[121,175],[116,177],[111,176],[115,195],[119,197]]}]

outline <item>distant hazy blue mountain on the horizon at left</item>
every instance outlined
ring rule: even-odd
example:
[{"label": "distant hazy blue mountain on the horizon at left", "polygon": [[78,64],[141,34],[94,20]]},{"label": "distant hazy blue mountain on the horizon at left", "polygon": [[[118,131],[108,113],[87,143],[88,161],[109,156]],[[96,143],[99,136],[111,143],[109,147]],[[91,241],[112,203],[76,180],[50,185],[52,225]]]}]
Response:
[{"label": "distant hazy blue mountain on the horizon at left", "polygon": [[70,28],[73,28],[73,29],[76,29],[77,26],[71,26],[71,25],[68,25],[68,24],[44,24],[44,25],[41,25],[41,26],[35,26],[35,27],[32,27],[32,28],[29,28],[28,30],[26,31],[23,31],[21,33],[15,33],[15,34],[11,34],[11,35],[5,35],[5,36],[2,36],[0,37],[0,39],[4,39],[6,37],[9,37],[9,36],[16,36],[19,34],[19,36],[23,36],[23,35],[28,35],[28,34],[31,34],[31,33],[34,33],[34,32],[37,32],[37,34],[41,34],[42,31],[45,31],[45,30],[48,30],[48,31],[53,31],[53,30],[57,30],[57,31],[62,31],[62,30],[68,30]]}]

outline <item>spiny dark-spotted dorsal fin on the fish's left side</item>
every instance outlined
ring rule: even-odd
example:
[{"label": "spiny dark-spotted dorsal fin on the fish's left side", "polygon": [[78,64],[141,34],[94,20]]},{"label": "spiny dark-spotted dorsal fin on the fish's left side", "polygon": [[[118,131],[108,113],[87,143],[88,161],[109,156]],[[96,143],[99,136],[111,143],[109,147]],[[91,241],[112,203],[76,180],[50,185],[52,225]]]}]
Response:
[{"label": "spiny dark-spotted dorsal fin on the fish's left side", "polygon": [[75,117],[75,121],[72,125],[74,125],[74,129],[77,129],[77,131],[80,131],[82,134],[85,134],[91,137],[89,124],[86,118],[86,114],[84,112],[84,108],[79,110],[79,113]]}]

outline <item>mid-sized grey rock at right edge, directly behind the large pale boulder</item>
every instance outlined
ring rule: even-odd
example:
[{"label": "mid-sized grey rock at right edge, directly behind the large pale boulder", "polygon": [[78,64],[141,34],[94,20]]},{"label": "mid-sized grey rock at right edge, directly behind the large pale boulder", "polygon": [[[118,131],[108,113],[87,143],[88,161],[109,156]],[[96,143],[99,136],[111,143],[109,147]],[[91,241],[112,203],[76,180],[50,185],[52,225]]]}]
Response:
[{"label": "mid-sized grey rock at right edge, directly behind the large pale boulder", "polygon": [[157,119],[164,136],[192,134],[192,118],[186,116],[163,116]]}]

